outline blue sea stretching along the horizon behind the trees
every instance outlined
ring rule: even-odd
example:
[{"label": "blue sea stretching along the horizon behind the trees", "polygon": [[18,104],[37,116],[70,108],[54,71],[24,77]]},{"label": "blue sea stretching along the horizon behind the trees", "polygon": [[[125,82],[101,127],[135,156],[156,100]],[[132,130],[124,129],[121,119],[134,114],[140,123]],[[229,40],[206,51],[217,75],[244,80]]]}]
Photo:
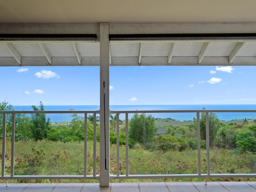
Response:
[{"label": "blue sea stretching along the horizon behind the trees", "polygon": [[[31,106],[13,106],[14,110],[32,111]],[[113,111],[129,111],[129,110],[256,110],[256,105],[110,105],[110,110]],[[99,110],[99,105],[46,105],[45,111],[65,111],[73,109],[75,111],[94,111]],[[216,113],[219,120],[232,120],[232,119],[255,119],[256,113],[254,112],[236,112]],[[46,114],[51,122],[71,121],[70,114]],[[81,116],[83,116],[81,114]],[[133,114],[129,114],[128,118],[132,118]],[[173,118],[176,120],[193,120],[196,117],[195,113],[154,113],[154,118]],[[120,114],[120,119],[125,119],[125,114]]]}]

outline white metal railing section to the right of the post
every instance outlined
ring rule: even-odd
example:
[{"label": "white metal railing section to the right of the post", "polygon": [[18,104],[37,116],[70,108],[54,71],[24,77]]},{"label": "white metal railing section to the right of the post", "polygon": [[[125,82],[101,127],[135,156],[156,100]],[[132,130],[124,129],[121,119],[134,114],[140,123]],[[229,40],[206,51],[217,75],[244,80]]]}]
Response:
[{"label": "white metal railing section to the right of the post", "polygon": [[[212,174],[210,169],[210,131],[209,131],[209,113],[216,113],[216,112],[256,112],[256,110],[136,110],[136,111],[111,111],[111,113],[116,114],[116,145],[117,145],[117,162],[116,162],[116,175],[112,175],[111,179],[166,179],[166,178],[204,178],[205,182],[207,178],[255,178],[256,173],[254,174]],[[196,120],[197,120],[197,152],[198,152],[198,174],[139,174],[139,175],[132,175],[129,174],[129,138],[128,138],[128,114],[134,113],[145,113],[145,114],[152,114],[152,113],[195,113]],[[200,113],[206,114],[206,166],[207,166],[207,174],[201,173],[201,146],[200,146]],[[125,114],[125,125],[126,125],[126,174],[120,175],[119,172],[119,114]]]}]

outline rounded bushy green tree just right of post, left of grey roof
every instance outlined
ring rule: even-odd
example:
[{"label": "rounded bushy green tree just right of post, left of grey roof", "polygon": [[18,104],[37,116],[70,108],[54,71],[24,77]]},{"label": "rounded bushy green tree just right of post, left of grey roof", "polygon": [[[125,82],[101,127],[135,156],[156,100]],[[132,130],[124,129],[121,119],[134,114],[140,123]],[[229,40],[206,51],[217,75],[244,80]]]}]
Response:
[{"label": "rounded bushy green tree just right of post, left of grey roof", "polygon": [[129,122],[129,137],[137,143],[154,141],[157,133],[155,118],[152,115],[135,113]]}]

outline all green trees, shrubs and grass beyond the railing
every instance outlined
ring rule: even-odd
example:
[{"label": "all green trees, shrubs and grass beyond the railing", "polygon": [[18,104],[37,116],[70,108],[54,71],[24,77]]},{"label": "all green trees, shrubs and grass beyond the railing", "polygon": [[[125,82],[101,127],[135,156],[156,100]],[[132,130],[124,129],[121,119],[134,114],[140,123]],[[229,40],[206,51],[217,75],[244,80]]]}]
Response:
[{"label": "all green trees, shrubs and grass beyond the railing", "polygon": [[[34,111],[44,111],[44,105],[32,106]],[[11,104],[0,103],[0,110],[12,111]],[[83,175],[84,174],[84,123],[87,123],[88,170],[93,165],[93,119],[87,120],[74,113],[71,122],[50,122],[45,114],[16,114],[15,125],[15,175]],[[200,117],[201,170],[206,171],[206,114]],[[0,114],[0,131],[3,116]],[[6,175],[10,174],[12,115],[6,115]],[[99,173],[99,117],[96,117],[96,174]],[[119,121],[120,174],[125,174],[126,125]],[[129,174],[196,174],[197,168],[197,121],[160,119],[152,115],[134,114],[128,121]],[[116,174],[116,115],[110,116],[110,174]],[[157,134],[158,127],[167,134]],[[256,120],[220,121],[209,113],[210,168],[211,173],[256,172]],[[2,160],[0,138],[0,160]],[[210,179],[210,180],[219,180]],[[229,179],[226,180],[241,180]],[[247,180],[247,178],[243,179]],[[254,179],[250,179],[254,180]],[[127,180],[125,180],[127,181]],[[132,180],[135,182],[135,180]],[[201,179],[168,179],[143,181],[201,181]],[[60,182],[14,181],[14,182]],[[63,181],[62,182],[80,182]],[[88,180],[86,182],[97,182]],[[120,180],[119,182],[122,182]]]}]

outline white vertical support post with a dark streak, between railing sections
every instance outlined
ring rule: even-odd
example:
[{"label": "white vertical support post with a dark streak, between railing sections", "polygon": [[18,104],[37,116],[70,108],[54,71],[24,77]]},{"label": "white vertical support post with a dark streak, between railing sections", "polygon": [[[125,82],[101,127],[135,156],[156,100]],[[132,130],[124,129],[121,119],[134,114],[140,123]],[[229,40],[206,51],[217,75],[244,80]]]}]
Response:
[{"label": "white vertical support post with a dark streak, between railing sections", "polygon": [[100,23],[100,186],[109,181],[109,23]]}]

